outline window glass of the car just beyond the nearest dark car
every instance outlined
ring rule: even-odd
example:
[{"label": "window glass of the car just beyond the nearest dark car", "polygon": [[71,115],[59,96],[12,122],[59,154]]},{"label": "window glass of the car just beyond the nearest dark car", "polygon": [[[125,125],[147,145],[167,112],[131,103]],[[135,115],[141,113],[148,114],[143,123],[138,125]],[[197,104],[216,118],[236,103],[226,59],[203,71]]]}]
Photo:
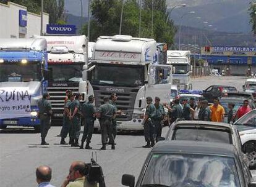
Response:
[{"label": "window glass of the car just beyond the nearest dark car", "polygon": [[217,127],[177,127],[171,139],[233,143],[230,130]]}]

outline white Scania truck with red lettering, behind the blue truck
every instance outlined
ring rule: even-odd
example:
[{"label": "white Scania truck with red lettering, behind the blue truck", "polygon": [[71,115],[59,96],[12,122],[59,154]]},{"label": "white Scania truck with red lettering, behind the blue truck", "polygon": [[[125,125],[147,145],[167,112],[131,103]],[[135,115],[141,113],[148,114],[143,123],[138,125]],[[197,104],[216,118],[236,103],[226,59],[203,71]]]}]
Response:
[{"label": "white Scania truck with red lettering, behind the blue truck", "polygon": [[[47,41],[48,69],[51,72],[47,89],[51,95],[52,121],[59,125],[62,122],[66,90],[73,93],[79,91],[82,68],[87,63],[87,39],[85,35],[34,37]],[[89,54],[92,55],[92,52]]]}]

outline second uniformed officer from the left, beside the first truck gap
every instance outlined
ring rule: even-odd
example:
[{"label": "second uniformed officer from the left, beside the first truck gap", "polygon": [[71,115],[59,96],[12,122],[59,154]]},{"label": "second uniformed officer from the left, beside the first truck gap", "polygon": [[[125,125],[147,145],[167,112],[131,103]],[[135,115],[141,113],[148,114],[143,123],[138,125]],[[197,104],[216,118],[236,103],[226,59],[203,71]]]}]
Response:
[{"label": "second uniformed officer from the left, beside the first truck gap", "polygon": [[73,100],[74,100],[74,95],[72,94],[72,92],[69,92],[69,94],[67,95],[67,100],[64,105],[64,112],[63,112],[63,119],[62,119],[63,124],[61,128],[61,143],[60,143],[61,145],[67,145],[65,138],[67,137],[67,134],[70,132],[70,127],[71,127],[70,108]]}]

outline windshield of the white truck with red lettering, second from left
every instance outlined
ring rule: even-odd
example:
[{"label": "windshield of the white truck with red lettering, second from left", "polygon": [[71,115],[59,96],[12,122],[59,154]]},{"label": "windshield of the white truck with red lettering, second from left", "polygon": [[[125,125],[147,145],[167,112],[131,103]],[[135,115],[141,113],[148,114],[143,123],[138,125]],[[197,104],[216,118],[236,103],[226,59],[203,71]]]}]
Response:
[{"label": "windshield of the white truck with red lettering, second from left", "polygon": [[82,68],[84,63],[72,64],[51,64],[48,69],[52,71],[51,81],[64,82],[64,81],[82,81]]}]

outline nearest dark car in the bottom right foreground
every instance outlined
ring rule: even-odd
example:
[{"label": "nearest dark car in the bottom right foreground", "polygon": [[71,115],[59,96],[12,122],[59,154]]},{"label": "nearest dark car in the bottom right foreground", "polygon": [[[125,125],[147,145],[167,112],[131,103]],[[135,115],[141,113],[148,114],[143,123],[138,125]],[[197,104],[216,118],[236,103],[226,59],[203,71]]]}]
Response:
[{"label": "nearest dark car in the bottom right foreground", "polygon": [[160,141],[134,175],[122,175],[130,187],[256,186],[233,145],[202,141]]}]

